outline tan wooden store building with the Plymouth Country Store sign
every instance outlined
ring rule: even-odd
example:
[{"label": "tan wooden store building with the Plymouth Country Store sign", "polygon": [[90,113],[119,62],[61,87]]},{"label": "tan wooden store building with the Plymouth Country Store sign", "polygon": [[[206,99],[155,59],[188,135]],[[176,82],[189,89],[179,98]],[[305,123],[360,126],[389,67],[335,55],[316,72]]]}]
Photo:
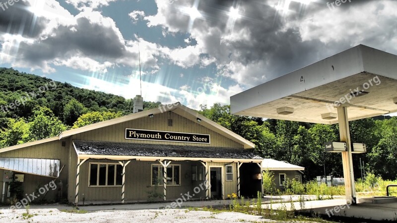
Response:
[{"label": "tan wooden store building with the Plymouth Country Store sign", "polygon": [[[0,174],[23,178],[26,194],[54,180],[57,189],[37,199],[77,204],[175,200],[187,192],[194,194],[190,199],[222,199],[262,190],[263,159],[252,142],[180,103],[134,110],[2,148]],[[0,184],[3,199],[9,178]]]}]

